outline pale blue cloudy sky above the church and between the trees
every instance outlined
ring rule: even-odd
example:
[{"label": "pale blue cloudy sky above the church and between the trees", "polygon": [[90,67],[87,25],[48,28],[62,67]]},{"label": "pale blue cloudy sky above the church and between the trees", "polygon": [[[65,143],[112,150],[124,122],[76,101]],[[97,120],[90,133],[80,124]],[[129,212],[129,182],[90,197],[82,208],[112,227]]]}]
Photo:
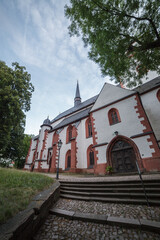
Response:
[{"label": "pale blue cloudy sky above the church and between the trees", "polygon": [[73,107],[77,80],[82,101],[109,82],[81,38],[69,36],[65,4],[69,0],[0,0],[0,60],[25,66],[35,87],[26,134],[37,135],[47,116]]}]

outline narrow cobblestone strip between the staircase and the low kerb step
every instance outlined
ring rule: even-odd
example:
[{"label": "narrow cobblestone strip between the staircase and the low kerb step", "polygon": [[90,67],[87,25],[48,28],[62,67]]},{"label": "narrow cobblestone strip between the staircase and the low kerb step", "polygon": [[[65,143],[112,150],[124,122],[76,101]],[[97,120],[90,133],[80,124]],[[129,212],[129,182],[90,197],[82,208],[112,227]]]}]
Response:
[{"label": "narrow cobblestone strip between the staircase and the low kerb step", "polygon": [[147,219],[160,222],[160,207],[147,207],[145,205],[127,205],[117,203],[87,202],[60,198],[54,205],[67,211],[81,213],[106,214],[112,217],[134,219]]}]

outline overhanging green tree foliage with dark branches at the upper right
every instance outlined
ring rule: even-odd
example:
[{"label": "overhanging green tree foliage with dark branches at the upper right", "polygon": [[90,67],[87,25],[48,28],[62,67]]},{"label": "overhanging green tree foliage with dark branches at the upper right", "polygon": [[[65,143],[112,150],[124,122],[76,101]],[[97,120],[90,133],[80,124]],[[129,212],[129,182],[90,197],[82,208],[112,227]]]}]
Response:
[{"label": "overhanging green tree foliage with dark branches at the upper right", "polygon": [[103,76],[136,85],[149,70],[160,74],[159,0],[70,0],[65,15]]}]

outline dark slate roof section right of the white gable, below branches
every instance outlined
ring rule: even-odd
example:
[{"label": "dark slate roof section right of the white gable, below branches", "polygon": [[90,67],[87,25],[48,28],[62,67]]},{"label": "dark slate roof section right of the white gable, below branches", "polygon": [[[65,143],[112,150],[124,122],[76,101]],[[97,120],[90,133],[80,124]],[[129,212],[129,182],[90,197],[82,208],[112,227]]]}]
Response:
[{"label": "dark slate roof section right of the white gable, below branches", "polygon": [[139,92],[139,94],[143,94],[157,87],[160,87],[160,76],[140,85],[139,87],[134,88],[134,90]]}]

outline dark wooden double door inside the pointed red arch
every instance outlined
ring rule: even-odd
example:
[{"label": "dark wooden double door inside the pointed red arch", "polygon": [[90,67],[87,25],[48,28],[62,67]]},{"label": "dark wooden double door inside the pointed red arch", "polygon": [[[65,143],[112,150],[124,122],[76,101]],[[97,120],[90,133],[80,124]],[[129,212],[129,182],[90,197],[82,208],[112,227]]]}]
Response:
[{"label": "dark wooden double door inside the pointed red arch", "polygon": [[136,155],[133,147],[124,140],[115,142],[111,149],[111,161],[114,172],[136,172]]}]

